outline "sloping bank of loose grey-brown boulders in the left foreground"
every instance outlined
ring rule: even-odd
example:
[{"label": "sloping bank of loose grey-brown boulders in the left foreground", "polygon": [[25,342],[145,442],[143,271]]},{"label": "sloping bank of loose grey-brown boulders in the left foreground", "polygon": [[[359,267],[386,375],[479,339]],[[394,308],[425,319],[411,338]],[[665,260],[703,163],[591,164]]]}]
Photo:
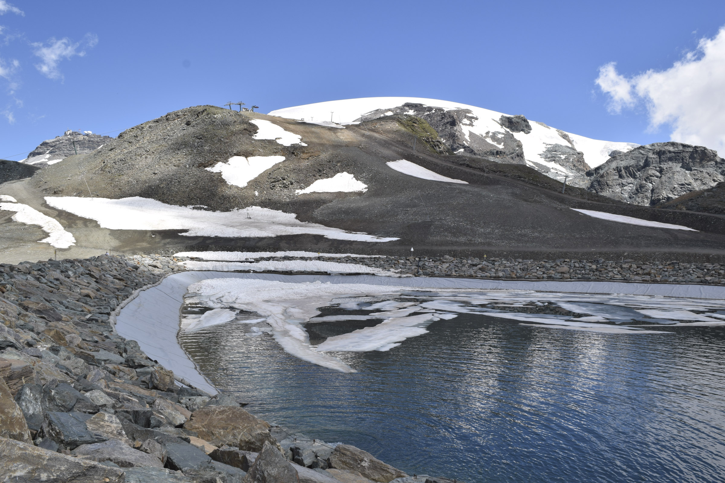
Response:
[{"label": "sloping bank of loose grey-brown boulders in the left foreground", "polygon": [[175,380],[112,314],[183,270],[164,256],[0,264],[0,480],[436,483],[272,427]]}]

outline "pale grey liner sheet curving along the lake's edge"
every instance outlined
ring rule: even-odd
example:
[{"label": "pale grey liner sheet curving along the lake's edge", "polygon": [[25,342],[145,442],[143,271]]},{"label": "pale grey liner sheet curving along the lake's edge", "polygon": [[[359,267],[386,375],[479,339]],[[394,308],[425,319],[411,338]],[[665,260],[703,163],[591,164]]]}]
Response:
[{"label": "pale grey liner sheet curving along the lake's edge", "polygon": [[397,285],[415,288],[466,288],[538,290],[541,292],[619,293],[626,295],[660,295],[687,298],[725,298],[725,287],[711,285],[668,285],[624,282],[558,282],[545,280],[476,280],[436,277],[377,277],[376,275],[282,275],[236,272],[182,272],[165,278],[155,287],[142,291],[130,301],[116,319],[116,332],[138,341],[146,354],[195,387],[218,391],[204,377],[176,338],[179,314],[186,288],[194,282],[213,278],[247,278],[278,282],[361,283],[368,285]]}]

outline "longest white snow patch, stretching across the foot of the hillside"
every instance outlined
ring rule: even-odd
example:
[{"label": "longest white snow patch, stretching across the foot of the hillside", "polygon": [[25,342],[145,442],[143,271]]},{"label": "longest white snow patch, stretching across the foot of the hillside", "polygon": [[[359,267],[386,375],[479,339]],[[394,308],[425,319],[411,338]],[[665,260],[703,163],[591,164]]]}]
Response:
[{"label": "longest white snow patch, stretching across the foot of the hillside", "polygon": [[323,235],[334,240],[386,242],[397,238],[381,238],[366,233],[346,232],[323,224],[300,222],[294,213],[249,206],[233,211],[204,211],[188,206],[167,205],[150,198],[133,196],[81,198],[78,196],[46,196],[50,206],[83,218],[96,220],[111,230],[188,230],[183,236],[230,238],[266,238],[278,235]]}]

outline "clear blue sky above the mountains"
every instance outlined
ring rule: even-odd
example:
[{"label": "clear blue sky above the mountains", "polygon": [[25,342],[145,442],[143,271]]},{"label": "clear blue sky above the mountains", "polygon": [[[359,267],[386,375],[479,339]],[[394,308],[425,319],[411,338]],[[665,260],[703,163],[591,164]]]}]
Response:
[{"label": "clear blue sky above the mountains", "polygon": [[617,113],[599,69],[616,62],[615,83],[668,70],[725,25],[723,1],[0,0],[3,10],[0,158],[16,160],[69,128],[115,135],[187,106],[269,112],[369,96],[669,140],[667,122],[649,128],[657,99]]}]

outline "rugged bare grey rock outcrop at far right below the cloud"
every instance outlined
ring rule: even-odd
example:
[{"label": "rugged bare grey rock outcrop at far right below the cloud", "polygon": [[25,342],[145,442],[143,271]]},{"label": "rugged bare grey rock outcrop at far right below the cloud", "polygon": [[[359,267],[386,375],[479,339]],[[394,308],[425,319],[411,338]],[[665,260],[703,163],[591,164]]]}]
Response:
[{"label": "rugged bare grey rock outcrop at far right below the cloud", "polygon": [[590,191],[653,206],[725,181],[725,159],[703,146],[653,143],[614,156],[587,175]]}]

